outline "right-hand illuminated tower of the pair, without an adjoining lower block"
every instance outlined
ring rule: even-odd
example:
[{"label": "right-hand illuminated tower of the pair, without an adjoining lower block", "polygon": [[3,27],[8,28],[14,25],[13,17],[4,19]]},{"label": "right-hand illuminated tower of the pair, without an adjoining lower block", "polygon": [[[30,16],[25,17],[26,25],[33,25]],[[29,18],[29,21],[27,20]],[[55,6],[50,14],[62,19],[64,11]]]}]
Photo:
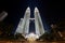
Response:
[{"label": "right-hand illuminated tower of the pair, without an adjoining lower block", "polygon": [[35,15],[36,34],[41,35],[44,33],[44,28],[42,25],[42,20],[41,20],[39,10],[37,8],[35,8],[34,15]]}]

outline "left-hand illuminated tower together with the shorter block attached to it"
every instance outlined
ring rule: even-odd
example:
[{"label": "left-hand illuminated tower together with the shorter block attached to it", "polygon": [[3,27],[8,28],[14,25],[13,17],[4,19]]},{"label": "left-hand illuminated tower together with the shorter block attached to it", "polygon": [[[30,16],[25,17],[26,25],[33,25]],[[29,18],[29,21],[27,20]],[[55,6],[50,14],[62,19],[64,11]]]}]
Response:
[{"label": "left-hand illuminated tower together with the shorter block attached to it", "polygon": [[29,33],[29,18],[30,18],[30,9],[27,8],[24,18],[21,18],[15,33],[22,33],[23,35]]}]

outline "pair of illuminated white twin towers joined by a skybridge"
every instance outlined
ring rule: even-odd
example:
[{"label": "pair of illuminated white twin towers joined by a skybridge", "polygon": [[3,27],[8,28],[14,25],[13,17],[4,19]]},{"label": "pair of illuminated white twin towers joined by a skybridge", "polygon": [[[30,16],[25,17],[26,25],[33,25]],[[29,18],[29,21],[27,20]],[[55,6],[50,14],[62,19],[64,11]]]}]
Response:
[{"label": "pair of illuminated white twin towers joined by a skybridge", "polygon": [[34,18],[30,18],[30,8],[27,8],[24,18],[21,18],[20,24],[17,26],[17,29],[15,31],[16,33],[22,33],[22,35],[26,37],[29,35],[31,32],[29,32],[29,29],[31,30],[30,27],[30,20],[34,20],[35,23],[35,34],[40,37],[41,34],[44,33],[44,28],[43,28],[43,24],[41,20],[41,16],[39,13],[39,10],[37,8],[35,8],[34,10]]}]

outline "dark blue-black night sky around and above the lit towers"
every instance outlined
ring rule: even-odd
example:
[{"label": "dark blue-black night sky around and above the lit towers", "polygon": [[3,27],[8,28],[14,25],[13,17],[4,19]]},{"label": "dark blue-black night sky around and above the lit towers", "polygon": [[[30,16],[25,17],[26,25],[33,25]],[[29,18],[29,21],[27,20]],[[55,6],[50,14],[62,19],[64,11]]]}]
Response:
[{"label": "dark blue-black night sky around and above the lit towers", "polygon": [[[46,30],[49,30],[51,24],[65,20],[64,2],[52,0],[2,0],[0,1],[0,12],[8,12],[8,17],[4,19],[6,24],[13,24],[16,29],[20,18],[24,16],[27,6],[31,10],[34,17],[34,9],[39,9],[42,23]],[[14,31],[13,30],[13,31]]]}]

